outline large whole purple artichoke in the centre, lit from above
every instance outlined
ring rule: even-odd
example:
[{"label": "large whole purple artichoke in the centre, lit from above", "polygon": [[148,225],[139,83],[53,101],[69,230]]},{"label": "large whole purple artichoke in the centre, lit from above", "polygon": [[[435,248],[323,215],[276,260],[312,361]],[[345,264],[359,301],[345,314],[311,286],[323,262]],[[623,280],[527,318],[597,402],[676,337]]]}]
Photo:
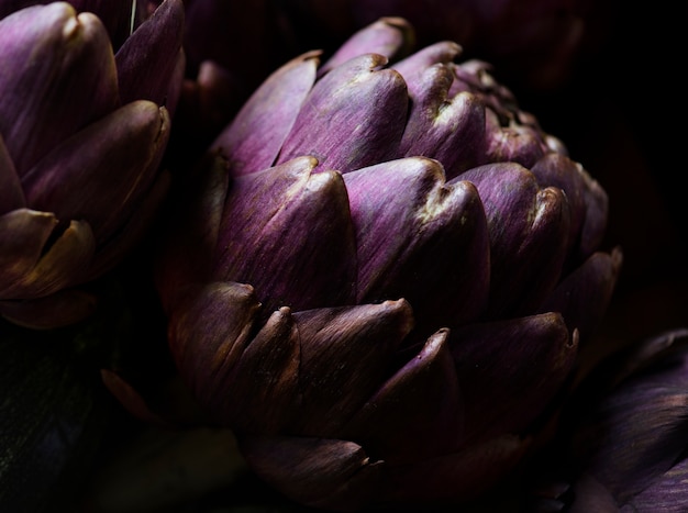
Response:
[{"label": "large whole purple artichoke in the centre, lit from above", "polygon": [[603,189],[488,64],[382,19],[268,77],[157,260],[190,390],[287,497],[475,498],[536,446],[621,250]]}]

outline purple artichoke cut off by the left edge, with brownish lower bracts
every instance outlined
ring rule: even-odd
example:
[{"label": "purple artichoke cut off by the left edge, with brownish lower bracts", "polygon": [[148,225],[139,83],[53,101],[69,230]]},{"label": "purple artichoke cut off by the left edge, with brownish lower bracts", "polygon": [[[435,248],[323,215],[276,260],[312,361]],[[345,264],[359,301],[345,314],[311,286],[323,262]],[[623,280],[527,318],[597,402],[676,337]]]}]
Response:
[{"label": "purple artichoke cut off by the left edge, with brownish lower bracts", "polygon": [[7,319],[32,327],[84,319],[95,299],[77,286],[121,261],[153,221],[169,182],[159,164],[181,87],[182,27],[181,1],[167,0],[114,53],[101,19],[66,2],[0,20]]}]

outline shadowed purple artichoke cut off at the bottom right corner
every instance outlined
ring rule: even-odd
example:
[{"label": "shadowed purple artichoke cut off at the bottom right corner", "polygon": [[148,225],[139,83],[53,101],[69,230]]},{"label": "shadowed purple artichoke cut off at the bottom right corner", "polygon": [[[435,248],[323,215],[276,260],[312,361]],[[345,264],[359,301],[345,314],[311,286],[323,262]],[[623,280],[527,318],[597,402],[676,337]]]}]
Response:
[{"label": "shadowed purple artichoke cut off at the bottom right corner", "polygon": [[686,511],[688,328],[612,354],[576,399],[559,470],[570,488],[550,504],[572,513]]}]

